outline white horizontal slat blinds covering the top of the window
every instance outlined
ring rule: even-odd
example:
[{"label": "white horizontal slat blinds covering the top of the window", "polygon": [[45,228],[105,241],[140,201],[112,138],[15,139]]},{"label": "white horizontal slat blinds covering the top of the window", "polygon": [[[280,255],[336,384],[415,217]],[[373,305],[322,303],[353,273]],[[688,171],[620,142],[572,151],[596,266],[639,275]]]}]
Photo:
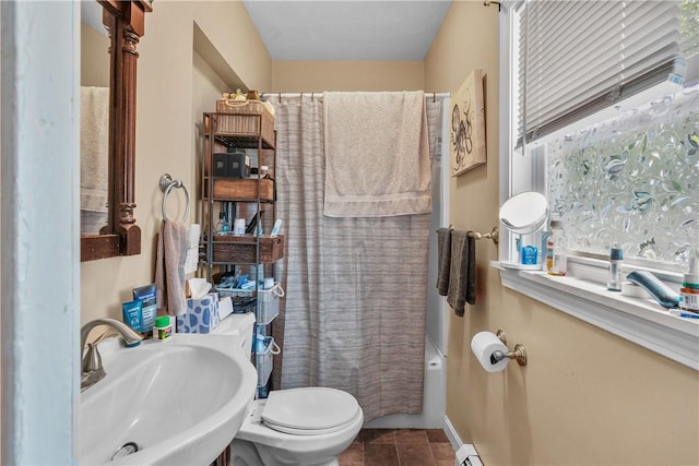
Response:
[{"label": "white horizontal slat blinds covering the top of the window", "polygon": [[682,82],[679,1],[519,3],[519,143]]}]

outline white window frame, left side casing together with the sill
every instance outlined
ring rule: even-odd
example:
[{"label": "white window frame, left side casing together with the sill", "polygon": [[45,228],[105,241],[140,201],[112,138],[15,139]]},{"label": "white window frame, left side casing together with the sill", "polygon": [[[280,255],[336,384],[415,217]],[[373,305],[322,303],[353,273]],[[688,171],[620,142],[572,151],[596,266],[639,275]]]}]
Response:
[{"label": "white window frame, left side casing together with the sill", "polygon": [[[512,51],[517,40],[517,21],[512,2],[502,2],[500,14],[500,205],[522,191],[545,193],[544,157],[512,154],[517,111],[512,83]],[[514,258],[513,237],[500,226],[499,258]],[[568,275],[556,277],[545,272],[514,270],[494,261],[500,270],[502,286],[536,299],[577,319],[604,328],[621,338],[663,355],[699,371],[699,320],[667,312],[652,299],[630,298],[606,289],[607,262],[600,259],[569,256]],[[624,272],[642,270],[625,264]],[[653,270],[672,288],[678,289],[683,275]]]}]

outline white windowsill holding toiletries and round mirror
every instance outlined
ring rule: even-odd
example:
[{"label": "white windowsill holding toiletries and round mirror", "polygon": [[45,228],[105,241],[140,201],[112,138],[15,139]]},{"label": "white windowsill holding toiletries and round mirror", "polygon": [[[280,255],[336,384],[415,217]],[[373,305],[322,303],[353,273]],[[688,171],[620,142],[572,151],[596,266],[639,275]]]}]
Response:
[{"label": "white windowsill holding toiletries and round mirror", "polygon": [[698,319],[673,315],[653,299],[627,297],[594,279],[582,279],[581,268],[593,270],[594,275],[601,267],[583,264],[595,261],[577,262],[569,263],[569,275],[562,277],[507,268],[498,261],[490,265],[500,270],[502,286],[699,371]]}]

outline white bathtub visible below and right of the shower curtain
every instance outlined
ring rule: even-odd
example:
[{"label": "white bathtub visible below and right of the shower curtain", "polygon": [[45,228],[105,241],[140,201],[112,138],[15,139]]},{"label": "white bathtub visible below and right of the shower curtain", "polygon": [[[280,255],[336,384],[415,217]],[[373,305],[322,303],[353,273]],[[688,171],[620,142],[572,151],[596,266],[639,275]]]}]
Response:
[{"label": "white bathtub visible below and right of the shower curtain", "polygon": [[419,415],[390,415],[374,419],[368,429],[442,429],[447,411],[447,361],[433,339],[425,338],[425,386],[423,413]]}]

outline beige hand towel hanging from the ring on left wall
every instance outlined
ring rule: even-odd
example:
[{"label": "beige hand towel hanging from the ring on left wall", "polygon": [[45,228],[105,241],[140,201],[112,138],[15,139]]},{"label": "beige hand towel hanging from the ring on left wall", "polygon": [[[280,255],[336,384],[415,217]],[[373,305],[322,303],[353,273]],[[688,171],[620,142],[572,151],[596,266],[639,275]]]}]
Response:
[{"label": "beige hand towel hanging from the ring on left wall", "polygon": [[169,315],[187,312],[185,262],[188,246],[187,228],[178,222],[164,220],[157,238],[155,263],[158,315],[163,313],[163,308]]}]

